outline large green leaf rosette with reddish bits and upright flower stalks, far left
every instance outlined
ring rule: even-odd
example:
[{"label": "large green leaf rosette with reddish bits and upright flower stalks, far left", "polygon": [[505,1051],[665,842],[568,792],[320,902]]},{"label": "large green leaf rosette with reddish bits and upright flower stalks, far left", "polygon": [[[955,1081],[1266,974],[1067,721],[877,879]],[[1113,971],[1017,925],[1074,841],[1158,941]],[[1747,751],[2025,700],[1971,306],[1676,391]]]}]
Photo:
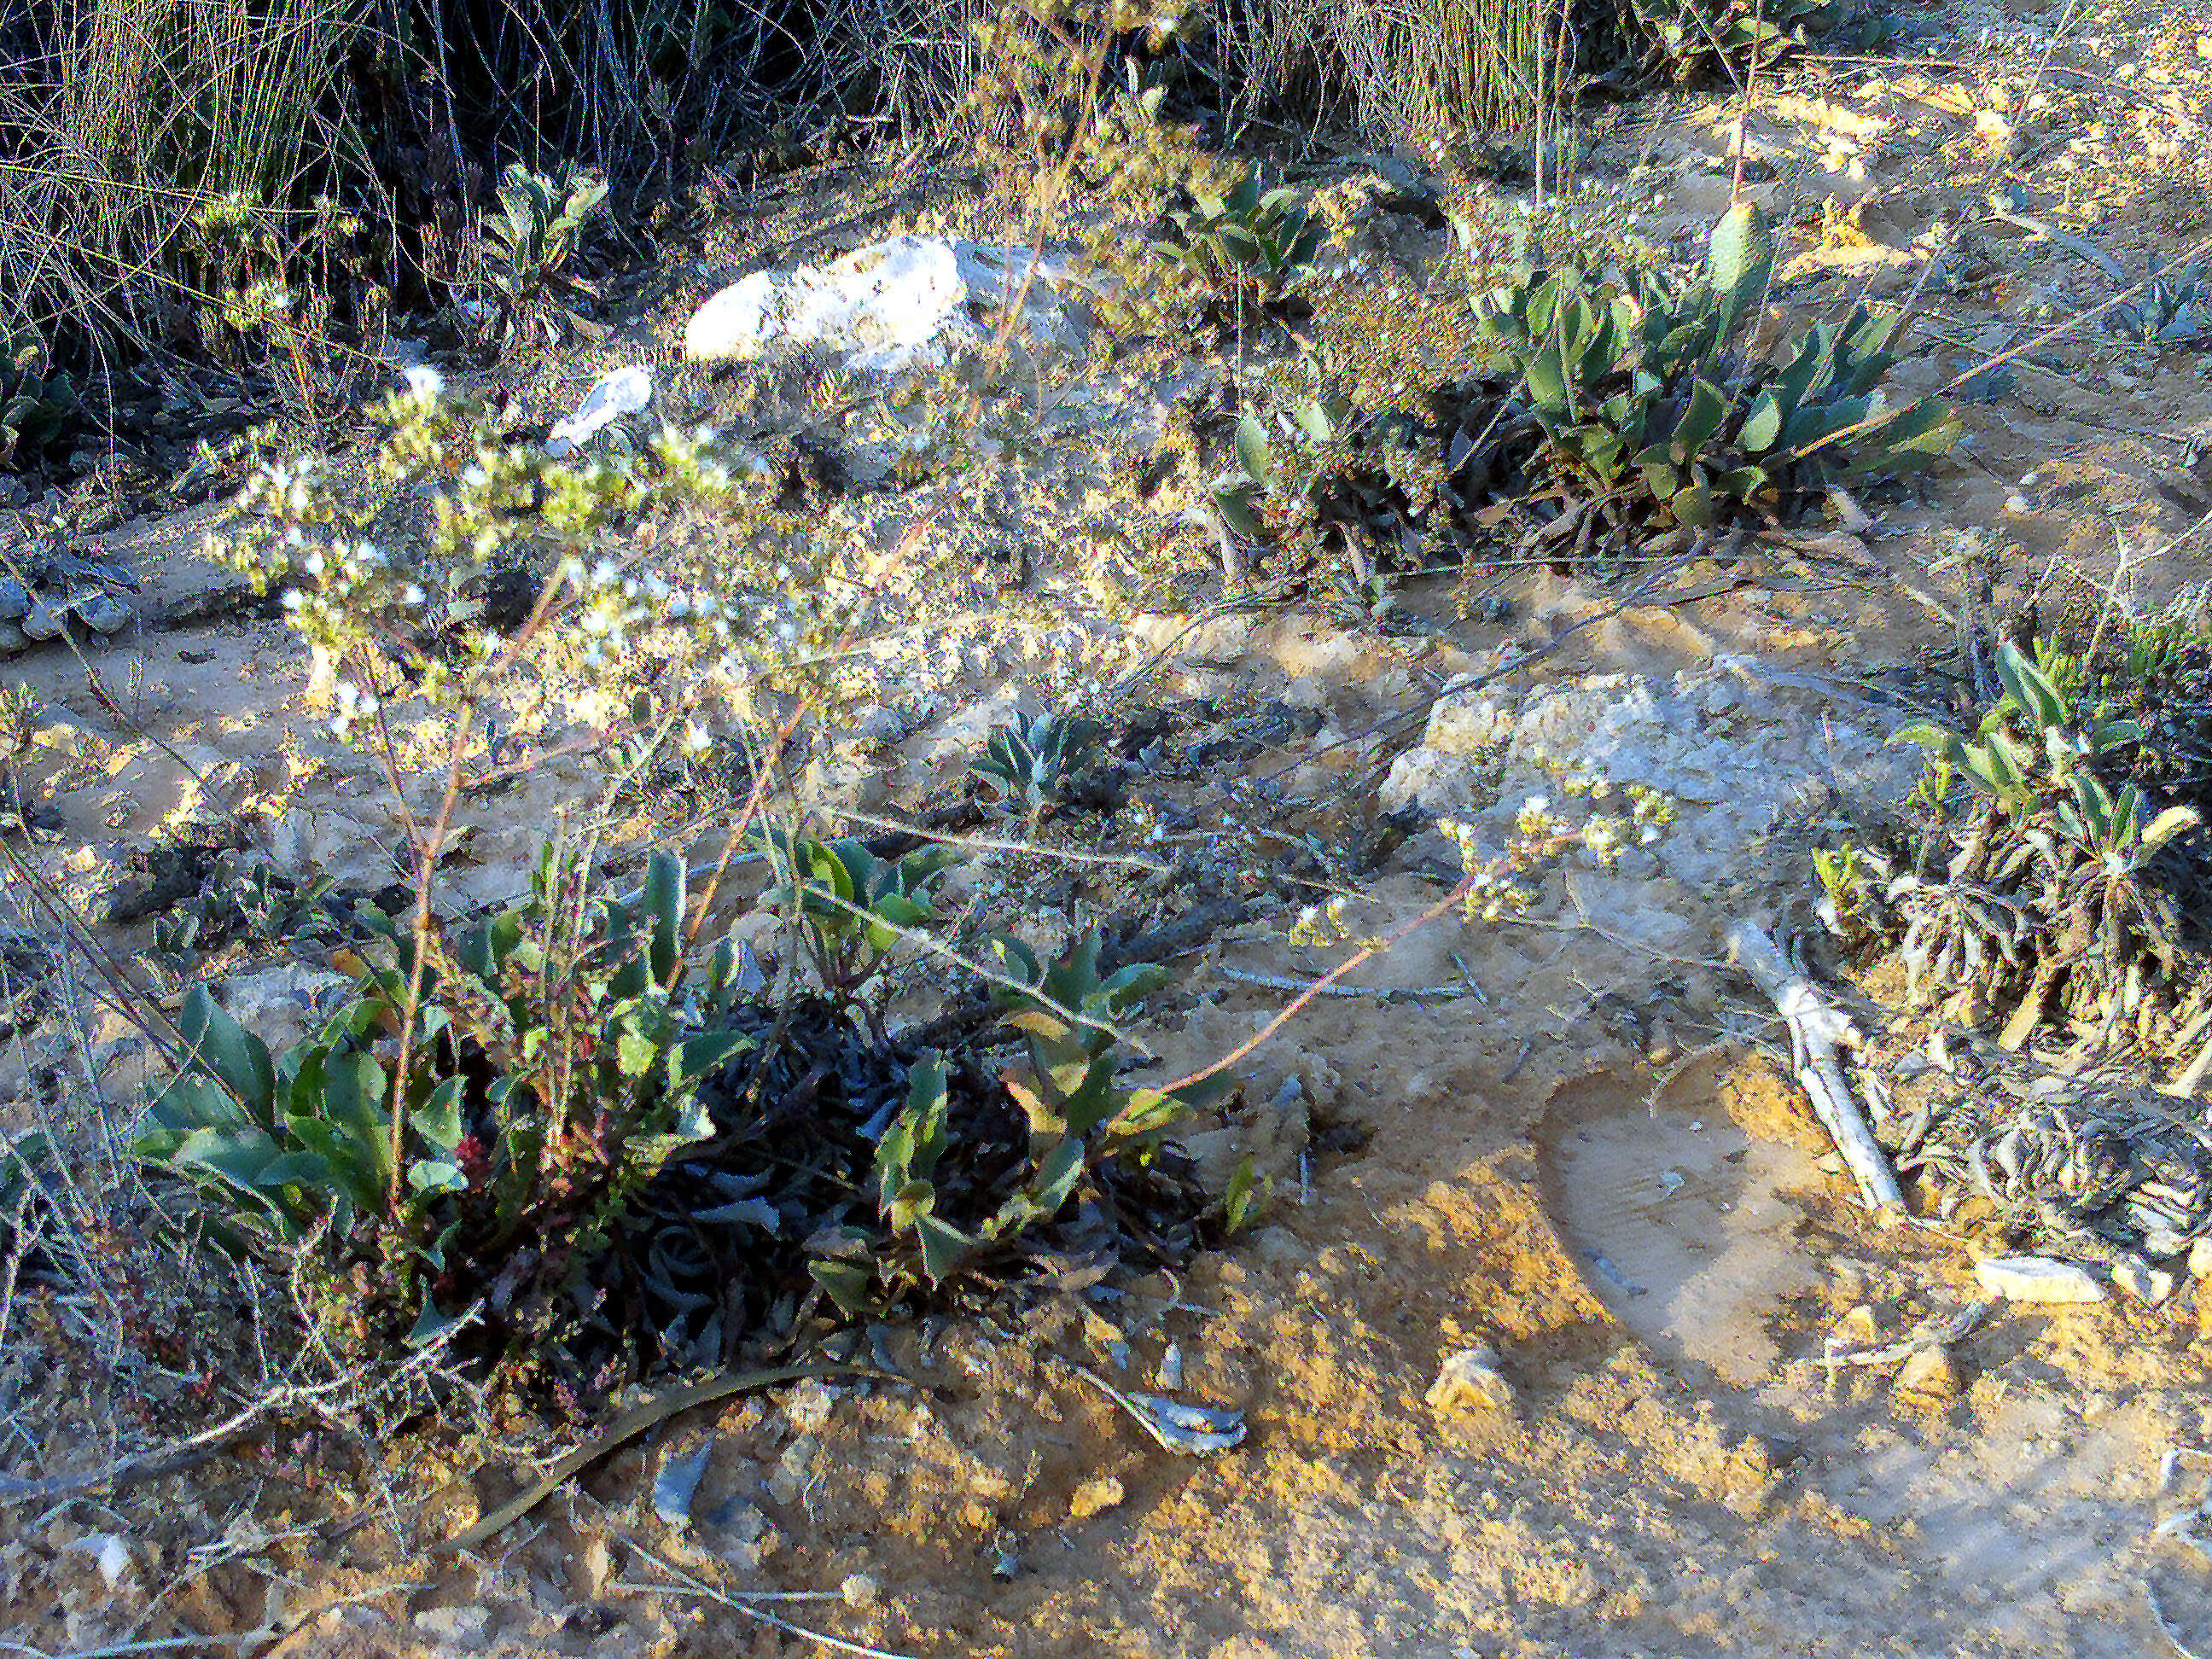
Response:
[{"label": "large green leaf rosette with reddish bits and upright flower stalks, far left", "polygon": [[232,1250],[323,1230],[341,1336],[420,1338],[471,1303],[495,1349],[555,1334],[633,1197],[712,1133],[701,1082],[754,1046],[726,1024],[734,947],[686,964],[679,860],[635,905],[582,880],[549,852],[526,905],[453,940],[385,925],[389,960],[352,958],[352,1000],[279,1057],[197,987],[135,1155]]}]

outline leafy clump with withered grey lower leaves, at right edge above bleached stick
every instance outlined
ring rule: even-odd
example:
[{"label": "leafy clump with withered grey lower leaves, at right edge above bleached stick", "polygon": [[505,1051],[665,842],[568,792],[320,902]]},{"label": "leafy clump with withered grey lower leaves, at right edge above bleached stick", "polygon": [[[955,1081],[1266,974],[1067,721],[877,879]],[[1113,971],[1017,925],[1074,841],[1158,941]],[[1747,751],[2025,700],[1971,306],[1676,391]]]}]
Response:
[{"label": "leafy clump with withered grey lower leaves, at right edge above bleached stick", "polygon": [[1924,827],[1909,858],[1863,849],[1851,900],[1916,995],[2002,1011],[2011,1046],[2055,1013],[2099,1046],[2157,1042],[2205,998],[2203,880],[2185,856],[2201,816],[2115,783],[2141,728],[2066,684],[2079,659],[2037,657],[2000,648],[2004,695],[1971,734],[1896,734],[1929,752],[1911,801]]}]

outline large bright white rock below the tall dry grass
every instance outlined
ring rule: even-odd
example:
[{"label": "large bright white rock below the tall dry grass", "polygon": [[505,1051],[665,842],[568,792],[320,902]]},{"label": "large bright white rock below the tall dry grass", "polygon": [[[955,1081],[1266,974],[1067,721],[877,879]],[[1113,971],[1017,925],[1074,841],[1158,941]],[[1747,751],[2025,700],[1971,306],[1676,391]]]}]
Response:
[{"label": "large bright white rock below the tall dry grass", "polygon": [[[1026,248],[956,237],[894,237],[830,265],[757,270],[706,301],[684,330],[690,361],[781,361],[827,347],[845,367],[876,374],[942,365],[953,345],[989,338],[998,307],[1020,292]],[[1029,323],[1073,343],[1055,290],[1068,272],[1037,265]]]}]

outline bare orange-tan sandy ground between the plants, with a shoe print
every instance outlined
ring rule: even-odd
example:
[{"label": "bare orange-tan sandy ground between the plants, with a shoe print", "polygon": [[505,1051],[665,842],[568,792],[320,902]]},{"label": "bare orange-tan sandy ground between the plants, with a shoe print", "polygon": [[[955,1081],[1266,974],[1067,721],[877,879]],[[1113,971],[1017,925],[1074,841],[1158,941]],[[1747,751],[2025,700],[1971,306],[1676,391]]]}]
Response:
[{"label": "bare orange-tan sandy ground between the plants, with a shoe print", "polygon": [[[1517,927],[1411,938],[1356,975],[1374,995],[1323,1000],[1254,1055],[1228,1144],[1276,1192],[1237,1248],[1179,1279],[889,1332],[914,1387],[803,1385],[677,1418],[462,1559],[425,1546],[498,1502],[507,1473],[453,1469],[420,1511],[336,1520],[332,1493],[250,1455],[18,1504],[0,1542],[13,1637],[49,1652],[190,1632],[208,1652],[259,1655],[807,1646],[703,1595],[639,1588],[666,1582],[659,1562],[728,1593],[825,1590],[759,1606],[911,1655],[2117,1659],[2166,1650],[2154,1601],[2179,1641],[2212,1648],[2212,1562],[2154,1531],[2212,1475],[2212,1290],[2161,1307],[1997,1305],[1949,1343],[1949,1367],[1823,1365],[1829,1338],[1871,1349],[1958,1318],[1995,1243],[1854,1206],[1776,1029],[1719,949],[1728,918],[1805,902],[1812,825],[1893,794],[1900,761],[1880,739],[1907,708],[1940,706],[1955,619],[2039,588],[2055,622],[2084,582],[2190,602],[2212,577],[2212,358],[2095,327],[2035,343],[2108,283],[1980,208],[1991,181],[2017,181],[2028,212],[2128,270],[2194,246],[2212,232],[2212,35],[2183,7],[2106,11],[2044,64],[2057,9],[1929,20],[1942,51],[1927,64],[1814,64],[1763,93],[1752,188],[1792,226],[1792,307],[1905,299],[1924,285],[1924,232],[1964,215],[1900,378],[1929,389],[2028,347],[2013,389],[1964,405],[1969,449],[1863,538],[1765,549],[1697,602],[1582,628],[1493,686],[1486,712],[1440,692],[1606,611],[1604,586],[1498,577],[1509,619],[1475,624],[1449,580],[1411,584],[1433,626],[1405,637],[1281,613],[1115,622],[1086,599],[1097,573],[1075,568],[1068,549],[1088,542],[1071,524],[1110,520],[1206,557],[1177,520],[1199,469],[1170,467],[1148,500],[1102,487],[1144,471],[1172,389],[1102,385],[1060,405],[1013,518],[951,484],[838,509],[867,533],[942,509],[947,542],[980,555],[1026,540],[1022,518],[1062,515],[1035,577],[1057,624],[962,635],[964,672],[938,706],[905,710],[867,776],[825,779],[845,803],[914,807],[1018,695],[1113,681],[1128,706],[1208,699],[1214,726],[1270,703],[1298,714],[1234,761],[1245,781],[1279,776],[1276,796],[1237,812],[1263,805],[1263,827],[1287,834],[1343,836],[1394,790],[1429,810],[1513,803],[1535,776],[1513,741],[1546,721],[1610,732],[1604,759],[1624,776],[1652,770],[1683,792],[1679,834],[1650,856],[1573,872]],[[1683,95],[1639,106],[1593,131],[1590,166],[1652,199],[1655,237],[1701,234],[1728,197],[1732,122],[1732,106]],[[960,221],[865,186],[841,204],[734,217],[697,261]],[[834,246],[801,246],[810,223]],[[533,396],[566,407],[597,367],[664,338],[710,285],[688,274],[697,261],[611,343],[546,367]],[[677,376],[672,396],[717,394]],[[303,648],[197,557],[206,515],[82,542],[146,588],[144,626],[97,657],[128,721],[66,653],[9,666],[46,708],[29,774],[42,852],[97,905],[133,849],[206,812],[190,763],[268,814],[279,867],[374,889],[392,880],[396,825],[358,757],[305,714]],[[1509,741],[1455,748],[1451,721],[1475,717]],[[487,812],[451,896],[518,891],[546,814],[584,787],[582,770],[549,772]],[[1265,849],[1203,787],[1166,794],[1239,856]],[[1433,834],[1407,841],[1363,927],[1431,902],[1447,865]],[[971,883],[1026,878],[987,863]],[[1051,933],[1086,898],[1035,902],[1029,920]],[[1181,989],[1139,1026],[1168,1066],[1281,1006],[1234,975],[1321,964],[1292,951],[1287,925],[1259,902],[1177,964]],[[142,947],[146,929],[115,938]],[[1391,987],[1455,995],[1383,998]],[[294,989],[254,1004],[279,1035]],[[126,1029],[95,1020],[91,1035],[128,1099]],[[1285,1077],[1301,1091],[1270,1108]],[[9,1086],[27,1086],[20,1068]],[[1442,1360],[1478,1347],[1493,1349],[1498,1400],[1431,1405]],[[1245,1411],[1241,1449],[1175,1458],[1071,1369],[1141,1389],[1164,1363],[1183,1398]],[[77,1467],[88,1440],[62,1422],[51,1444],[15,1449],[20,1473]],[[708,1444],[699,1520],[670,1528],[648,1504],[655,1473]],[[416,1473],[436,1486],[429,1462]]]}]

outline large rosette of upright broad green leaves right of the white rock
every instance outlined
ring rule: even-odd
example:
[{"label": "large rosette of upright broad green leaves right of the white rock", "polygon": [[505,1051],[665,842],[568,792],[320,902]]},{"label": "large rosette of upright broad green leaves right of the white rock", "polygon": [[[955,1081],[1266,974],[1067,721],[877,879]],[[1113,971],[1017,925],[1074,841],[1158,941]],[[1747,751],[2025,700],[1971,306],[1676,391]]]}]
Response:
[{"label": "large rosette of upright broad green leaves right of the white rock", "polygon": [[1624,285],[1568,268],[1478,299],[1491,376],[1515,385],[1504,411],[1491,378],[1462,398],[1449,442],[1462,500],[1484,476],[1520,471],[1559,507],[1546,551],[1588,553],[1601,531],[1790,513],[1834,476],[1924,467],[1958,442],[1949,405],[1896,409],[1880,389],[1900,316],[1858,307],[1781,356],[1756,352],[1747,323],[1772,274],[1774,237],[1739,204],[1694,281],[1641,272]]}]

